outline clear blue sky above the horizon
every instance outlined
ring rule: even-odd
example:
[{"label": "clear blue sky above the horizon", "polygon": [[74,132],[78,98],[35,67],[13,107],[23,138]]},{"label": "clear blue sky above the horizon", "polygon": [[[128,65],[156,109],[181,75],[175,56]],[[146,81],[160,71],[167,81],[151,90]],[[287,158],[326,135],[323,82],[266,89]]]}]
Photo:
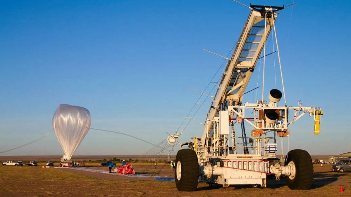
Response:
[{"label": "clear blue sky above the horizon", "polygon": [[[292,0],[241,2],[281,6]],[[345,59],[351,52],[351,2],[295,2],[276,23],[287,103],[296,106],[302,100],[305,106],[322,107],[325,115],[320,135],[313,134],[308,116],[294,123],[289,148],[310,154],[350,151],[351,67]],[[93,128],[159,143],[196,102],[199,94],[190,88],[203,90],[223,62],[202,49],[227,55],[250,11],[230,0],[0,4],[0,151],[52,131],[2,155],[62,155],[52,128],[60,103],[89,109]],[[272,57],[267,57],[266,91],[275,87]],[[256,69],[247,89],[258,79],[260,86],[261,76]],[[254,102],[255,95],[245,95],[244,101]],[[209,105],[194,119],[203,122]],[[180,142],[202,132],[191,122]],[[150,148],[133,138],[90,130],[75,154],[143,154]]]}]

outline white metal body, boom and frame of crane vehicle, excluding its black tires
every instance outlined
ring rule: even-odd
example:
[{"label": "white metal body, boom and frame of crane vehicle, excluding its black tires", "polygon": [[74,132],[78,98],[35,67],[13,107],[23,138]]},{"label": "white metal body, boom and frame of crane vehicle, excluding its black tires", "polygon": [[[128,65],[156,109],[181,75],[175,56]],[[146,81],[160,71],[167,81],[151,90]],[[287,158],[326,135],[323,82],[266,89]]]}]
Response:
[{"label": "white metal body, boom and frame of crane vehicle, excluding its black tires", "polygon": [[[278,107],[277,100],[271,100],[268,103],[263,99],[257,103],[242,105],[246,86],[259,55],[262,49],[265,49],[265,42],[271,29],[275,29],[274,21],[277,18],[278,9],[277,7],[252,8],[208,110],[203,136],[194,137],[193,142],[186,143],[197,153],[200,181],[223,184],[223,186],[253,184],[265,187],[267,174],[274,174],[277,179],[282,175],[295,176],[296,169],[293,162],[284,165],[276,158],[276,134],[279,132],[280,135],[289,136],[288,126],[306,113],[309,113],[309,116],[316,115],[316,111],[320,111],[320,108],[303,107],[301,103],[298,103],[298,107],[286,106],[285,89],[283,89],[285,107]],[[255,47],[250,48],[252,46]],[[243,54],[247,55],[243,56]],[[280,71],[282,74],[281,66]],[[254,117],[245,116],[245,110],[249,109],[254,111]],[[260,111],[261,114],[265,114],[267,110],[277,111],[280,120],[272,122],[260,117]],[[290,122],[289,110],[293,110],[294,114]],[[229,120],[223,120],[223,117],[228,117],[221,117],[220,111],[227,111],[225,113],[229,114]],[[241,124],[242,129],[245,129],[243,121],[254,129],[262,131],[262,135],[245,137],[243,132],[243,137],[237,137],[234,125]],[[227,127],[231,127],[231,132],[227,133],[227,129],[223,127],[225,123]],[[221,129],[225,132],[222,133]],[[282,131],[286,133],[281,134]],[[274,136],[269,137],[271,134]],[[238,142],[240,139],[243,143]],[[247,149],[248,154],[237,154],[238,148],[244,148],[244,152]]]}]

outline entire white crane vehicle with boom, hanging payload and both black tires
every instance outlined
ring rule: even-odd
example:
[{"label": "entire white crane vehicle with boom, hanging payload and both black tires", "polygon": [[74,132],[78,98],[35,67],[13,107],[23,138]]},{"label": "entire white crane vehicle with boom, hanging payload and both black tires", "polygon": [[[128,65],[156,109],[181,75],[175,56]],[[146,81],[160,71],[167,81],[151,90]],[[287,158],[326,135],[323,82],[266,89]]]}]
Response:
[{"label": "entire white crane vehicle with boom, hanging payload and both black tires", "polygon": [[[187,145],[189,149],[180,149],[176,156],[175,177],[179,191],[194,191],[199,181],[221,184],[223,187],[266,187],[267,175],[275,175],[277,180],[285,177],[290,189],[305,190],[312,184],[313,166],[309,153],[301,149],[290,150],[286,159],[280,161],[277,158],[277,136],[290,136],[288,126],[304,114],[314,116],[314,134],[319,134],[320,116],[324,113],[320,107],[304,107],[301,102],[298,102],[298,107],[286,105],[280,60],[285,106],[278,106],[283,96],[280,90],[271,89],[267,101],[263,94],[264,88],[261,100],[242,104],[245,89],[262,50],[263,57],[266,56],[266,40],[272,28],[278,59],[280,57],[274,21],[276,12],[284,9],[284,6],[251,5],[250,8],[249,18],[231,59],[227,59],[227,66],[208,110],[203,136],[193,137],[192,142],[180,144],[181,147]],[[265,65],[265,59],[263,62]],[[253,117],[245,116],[248,110]],[[292,120],[289,119],[289,111],[293,111]],[[253,127],[249,136],[246,135],[244,122]],[[235,135],[235,124],[241,126],[241,137]],[[243,149],[238,151],[238,148]]]}]

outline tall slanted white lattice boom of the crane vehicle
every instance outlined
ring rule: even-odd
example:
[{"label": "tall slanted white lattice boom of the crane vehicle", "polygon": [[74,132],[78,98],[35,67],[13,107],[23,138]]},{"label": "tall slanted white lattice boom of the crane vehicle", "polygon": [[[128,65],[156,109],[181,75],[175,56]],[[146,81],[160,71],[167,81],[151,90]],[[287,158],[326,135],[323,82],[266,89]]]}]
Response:
[{"label": "tall slanted white lattice boom of the crane vehicle", "polygon": [[[275,10],[277,9],[282,9],[282,7]],[[270,14],[274,15],[274,19],[277,18],[275,12],[266,12],[264,8],[251,10],[237,46],[224,70],[210,109],[208,109],[206,120],[218,116],[221,106],[228,106],[228,102],[233,106],[241,105],[246,86],[273,27]],[[265,21],[267,21],[266,25]],[[203,142],[207,136],[211,135],[212,122],[208,122],[208,124],[203,133]]]}]

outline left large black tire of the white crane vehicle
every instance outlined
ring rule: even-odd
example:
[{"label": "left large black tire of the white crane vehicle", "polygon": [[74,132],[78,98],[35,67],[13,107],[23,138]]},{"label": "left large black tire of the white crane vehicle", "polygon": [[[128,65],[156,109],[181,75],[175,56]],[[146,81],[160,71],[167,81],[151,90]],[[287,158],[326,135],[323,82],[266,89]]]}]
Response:
[{"label": "left large black tire of the white crane vehicle", "polygon": [[196,152],[181,149],[176,156],[174,178],[179,191],[195,191],[199,183],[199,163]]}]

